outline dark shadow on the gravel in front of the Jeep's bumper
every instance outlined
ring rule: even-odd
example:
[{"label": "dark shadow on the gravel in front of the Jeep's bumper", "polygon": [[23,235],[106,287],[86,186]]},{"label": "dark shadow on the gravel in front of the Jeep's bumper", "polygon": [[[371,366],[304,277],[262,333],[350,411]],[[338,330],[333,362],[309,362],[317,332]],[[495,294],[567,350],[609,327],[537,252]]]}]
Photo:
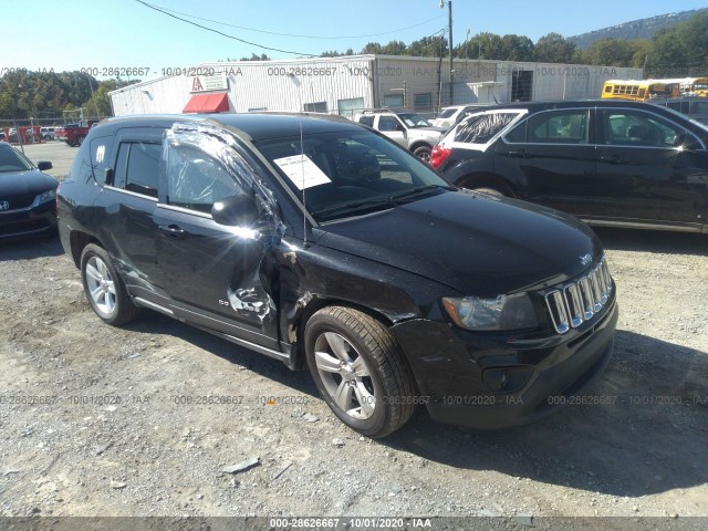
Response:
[{"label": "dark shadow on the gravel in front of the Jeep's bumper", "polygon": [[460,469],[620,497],[708,481],[707,353],[617,332],[611,365],[583,396],[591,404],[500,431],[444,426],[418,412],[386,444]]}]

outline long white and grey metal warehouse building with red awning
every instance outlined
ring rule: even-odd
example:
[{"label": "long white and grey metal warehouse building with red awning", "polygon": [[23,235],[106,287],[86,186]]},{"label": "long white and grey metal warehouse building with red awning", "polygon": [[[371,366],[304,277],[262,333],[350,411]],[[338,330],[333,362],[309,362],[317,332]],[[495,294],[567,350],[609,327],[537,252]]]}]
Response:
[{"label": "long white and grey metal warehouse building with red awning", "polygon": [[594,98],[607,80],[643,75],[641,69],[458,59],[450,91],[447,61],[405,55],[165,70],[170,75],[111,92],[114,114],[309,111],[351,116],[382,106],[431,114],[450,104]]}]

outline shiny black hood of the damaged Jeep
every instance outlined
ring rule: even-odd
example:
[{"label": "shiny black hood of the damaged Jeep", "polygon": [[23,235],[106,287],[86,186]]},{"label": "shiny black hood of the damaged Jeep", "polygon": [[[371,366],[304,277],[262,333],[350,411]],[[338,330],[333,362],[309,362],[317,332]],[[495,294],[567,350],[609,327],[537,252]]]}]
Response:
[{"label": "shiny black hood of the damaged Jeep", "polygon": [[553,285],[602,254],[594,232],[544,207],[461,191],[314,230],[317,243],[444,283],[466,295]]}]

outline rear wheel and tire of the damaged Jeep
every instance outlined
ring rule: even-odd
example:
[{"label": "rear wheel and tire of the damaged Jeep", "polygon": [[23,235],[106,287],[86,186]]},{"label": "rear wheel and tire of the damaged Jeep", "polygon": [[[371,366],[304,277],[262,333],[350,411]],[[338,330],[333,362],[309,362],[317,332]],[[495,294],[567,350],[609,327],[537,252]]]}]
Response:
[{"label": "rear wheel and tire of the damaged Jeep", "polygon": [[133,304],[111,257],[94,243],[81,253],[81,280],[91,308],[105,323],[118,326],[138,316],[140,310]]}]

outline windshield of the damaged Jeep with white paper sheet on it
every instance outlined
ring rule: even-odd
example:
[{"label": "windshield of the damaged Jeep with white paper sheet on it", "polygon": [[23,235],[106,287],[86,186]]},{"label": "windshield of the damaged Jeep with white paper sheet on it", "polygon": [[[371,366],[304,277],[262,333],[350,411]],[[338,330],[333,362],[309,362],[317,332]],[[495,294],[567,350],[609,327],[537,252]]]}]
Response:
[{"label": "windshield of the damaged Jeep with white paper sheet on it", "polygon": [[408,152],[368,131],[256,143],[317,221],[392,208],[454,189]]}]

